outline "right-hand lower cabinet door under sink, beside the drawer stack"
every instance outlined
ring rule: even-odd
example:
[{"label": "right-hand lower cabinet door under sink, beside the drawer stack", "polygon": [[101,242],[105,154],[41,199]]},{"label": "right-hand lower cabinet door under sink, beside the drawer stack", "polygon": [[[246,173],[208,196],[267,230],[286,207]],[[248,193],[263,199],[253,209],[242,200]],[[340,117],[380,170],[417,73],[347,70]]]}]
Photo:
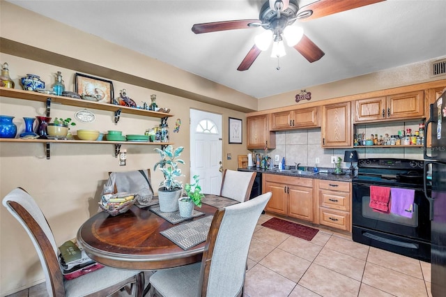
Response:
[{"label": "right-hand lower cabinet door under sink, beside the drawer stack", "polygon": [[289,185],[290,217],[313,222],[313,189]]}]

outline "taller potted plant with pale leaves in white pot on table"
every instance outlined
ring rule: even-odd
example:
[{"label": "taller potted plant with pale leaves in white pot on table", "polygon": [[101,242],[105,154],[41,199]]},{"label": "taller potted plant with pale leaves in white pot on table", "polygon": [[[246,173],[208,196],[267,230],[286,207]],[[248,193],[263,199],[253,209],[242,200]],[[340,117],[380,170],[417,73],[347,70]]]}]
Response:
[{"label": "taller potted plant with pale leaves in white pot on table", "polygon": [[164,148],[155,148],[155,151],[160,154],[160,161],[155,164],[153,170],[158,167],[162,174],[164,174],[164,181],[160,183],[158,188],[158,199],[160,201],[160,211],[171,213],[178,211],[178,198],[183,192],[183,183],[176,178],[183,176],[178,164],[185,164],[179,157],[183,152],[183,146],[178,146],[174,149],[171,145]]}]

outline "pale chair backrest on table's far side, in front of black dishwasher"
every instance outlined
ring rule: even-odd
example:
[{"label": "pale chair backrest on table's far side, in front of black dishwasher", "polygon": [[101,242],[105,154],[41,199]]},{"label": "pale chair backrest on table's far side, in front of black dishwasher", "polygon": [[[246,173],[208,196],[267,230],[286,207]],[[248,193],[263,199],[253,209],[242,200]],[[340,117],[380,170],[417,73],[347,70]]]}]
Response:
[{"label": "pale chair backrest on table's far side, in front of black dishwasher", "polygon": [[256,178],[255,172],[236,172],[225,169],[223,173],[220,196],[228,197],[240,202],[249,200],[252,185]]}]

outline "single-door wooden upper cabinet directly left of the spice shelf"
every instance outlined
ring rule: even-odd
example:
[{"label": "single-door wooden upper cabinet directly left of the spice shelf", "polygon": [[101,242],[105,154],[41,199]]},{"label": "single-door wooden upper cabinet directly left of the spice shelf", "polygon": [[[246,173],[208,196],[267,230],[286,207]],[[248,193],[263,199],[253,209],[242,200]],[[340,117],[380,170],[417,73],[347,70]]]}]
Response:
[{"label": "single-door wooden upper cabinet directly left of the spice shelf", "polygon": [[351,102],[341,102],[322,107],[322,147],[352,146]]}]

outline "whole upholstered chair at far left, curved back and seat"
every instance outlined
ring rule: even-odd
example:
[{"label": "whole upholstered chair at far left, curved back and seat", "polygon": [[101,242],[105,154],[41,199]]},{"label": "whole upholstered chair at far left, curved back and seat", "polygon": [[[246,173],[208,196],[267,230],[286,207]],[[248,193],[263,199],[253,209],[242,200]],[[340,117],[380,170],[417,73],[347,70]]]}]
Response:
[{"label": "whole upholstered chair at far left, curved back and seat", "polygon": [[[3,198],[3,206],[16,218],[31,238],[45,273],[49,296],[109,296],[120,289],[142,296],[144,273],[100,268],[73,280],[64,280],[58,261],[58,248],[51,228],[36,201],[22,188]],[[130,285],[130,287],[128,287]]]}]

